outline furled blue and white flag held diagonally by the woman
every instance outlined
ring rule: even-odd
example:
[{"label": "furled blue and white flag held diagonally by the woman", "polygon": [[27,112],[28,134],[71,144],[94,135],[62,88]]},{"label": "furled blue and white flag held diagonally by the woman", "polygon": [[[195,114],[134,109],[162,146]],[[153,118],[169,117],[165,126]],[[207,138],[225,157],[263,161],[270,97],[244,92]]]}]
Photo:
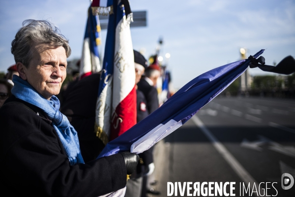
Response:
[{"label": "furled blue and white flag held diagonally by the woman", "polygon": [[[254,55],[260,56],[264,50]],[[179,89],[159,109],[124,134],[110,141],[98,158],[118,152],[140,153],[175,131],[203,106],[236,80],[250,64],[249,59],[212,69]]]}]

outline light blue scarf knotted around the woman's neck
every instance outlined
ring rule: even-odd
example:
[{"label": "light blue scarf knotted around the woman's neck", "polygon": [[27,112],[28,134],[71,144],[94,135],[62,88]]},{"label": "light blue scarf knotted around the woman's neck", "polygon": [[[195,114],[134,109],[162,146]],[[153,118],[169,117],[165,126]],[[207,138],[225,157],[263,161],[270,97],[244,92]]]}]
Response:
[{"label": "light blue scarf knotted around the woman's neck", "polygon": [[45,99],[27,81],[14,75],[12,79],[14,86],[11,93],[18,99],[26,101],[44,111],[52,120],[53,127],[58,133],[66,155],[71,165],[84,163],[81,155],[78,135],[65,115],[59,112],[59,99],[52,96],[50,100]]}]

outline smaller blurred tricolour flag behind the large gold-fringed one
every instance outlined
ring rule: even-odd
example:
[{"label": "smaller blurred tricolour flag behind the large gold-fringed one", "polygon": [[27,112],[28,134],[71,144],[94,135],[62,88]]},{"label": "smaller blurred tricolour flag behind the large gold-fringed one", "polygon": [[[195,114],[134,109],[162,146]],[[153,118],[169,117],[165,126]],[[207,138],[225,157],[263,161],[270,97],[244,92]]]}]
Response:
[{"label": "smaller blurred tricolour flag behind the large gold-fringed one", "polygon": [[80,79],[101,70],[98,54],[98,45],[101,44],[100,31],[99,18],[92,14],[92,9],[89,7],[80,63]]}]

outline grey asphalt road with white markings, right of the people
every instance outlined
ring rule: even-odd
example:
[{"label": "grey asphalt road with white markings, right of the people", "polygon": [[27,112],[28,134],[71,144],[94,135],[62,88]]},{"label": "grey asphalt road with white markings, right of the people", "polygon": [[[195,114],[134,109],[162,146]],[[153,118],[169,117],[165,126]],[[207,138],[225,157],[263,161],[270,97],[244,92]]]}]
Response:
[{"label": "grey asphalt road with white markings, right of the people", "polygon": [[[295,178],[295,100],[215,98],[158,142],[154,158],[158,197],[167,182],[236,182],[236,196],[266,196],[267,182],[267,196],[295,197],[295,185],[281,187],[283,173]],[[240,184],[249,183],[243,195]]]}]

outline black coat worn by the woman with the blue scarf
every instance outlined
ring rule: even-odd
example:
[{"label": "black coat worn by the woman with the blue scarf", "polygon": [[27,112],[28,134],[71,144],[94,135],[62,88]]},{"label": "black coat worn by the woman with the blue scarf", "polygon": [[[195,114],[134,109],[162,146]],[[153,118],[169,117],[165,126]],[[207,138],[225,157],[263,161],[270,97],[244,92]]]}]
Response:
[{"label": "black coat worn by the woman with the blue scarf", "polygon": [[119,154],[71,166],[51,121],[29,103],[8,98],[0,108],[0,125],[2,194],[97,197],[126,185]]}]

